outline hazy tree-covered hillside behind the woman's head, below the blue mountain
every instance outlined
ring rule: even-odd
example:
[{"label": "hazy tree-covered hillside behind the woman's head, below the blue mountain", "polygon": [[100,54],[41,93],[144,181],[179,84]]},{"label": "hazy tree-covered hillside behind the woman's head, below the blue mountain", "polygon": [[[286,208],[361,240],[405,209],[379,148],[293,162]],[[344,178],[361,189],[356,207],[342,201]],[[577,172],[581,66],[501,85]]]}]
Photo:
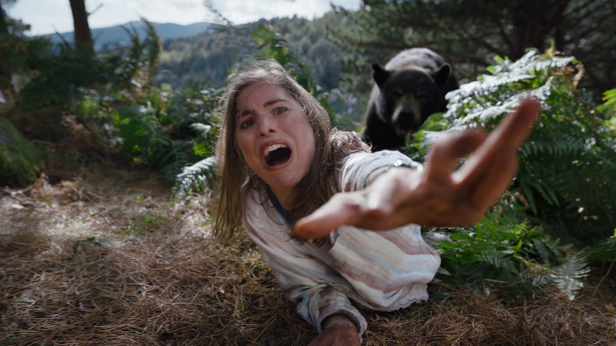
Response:
[{"label": "hazy tree-covered hillside behind the woman's head, below the blue mountain", "polygon": [[[336,89],[342,81],[341,49],[327,36],[326,26],[338,25],[339,17],[326,14],[322,18],[274,18],[246,25],[221,28],[195,36],[168,39],[156,73],[156,84],[168,83],[173,87],[204,82],[221,87],[230,69],[245,65],[259,57],[262,42],[255,38],[255,30],[271,28],[277,39],[299,57],[326,91]],[[365,73],[370,79],[370,71]]]}]

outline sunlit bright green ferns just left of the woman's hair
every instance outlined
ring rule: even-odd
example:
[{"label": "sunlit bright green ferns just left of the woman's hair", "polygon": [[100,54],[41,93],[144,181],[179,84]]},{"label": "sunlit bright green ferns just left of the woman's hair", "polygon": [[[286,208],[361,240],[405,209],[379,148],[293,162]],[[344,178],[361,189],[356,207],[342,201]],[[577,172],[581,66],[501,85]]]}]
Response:
[{"label": "sunlit bright green ferns just left of the woman's hair", "polygon": [[211,112],[220,92],[200,84],[177,91],[150,89],[148,97],[117,102],[116,109],[110,105],[111,142],[134,163],[161,169],[173,184],[186,164],[214,154]]}]

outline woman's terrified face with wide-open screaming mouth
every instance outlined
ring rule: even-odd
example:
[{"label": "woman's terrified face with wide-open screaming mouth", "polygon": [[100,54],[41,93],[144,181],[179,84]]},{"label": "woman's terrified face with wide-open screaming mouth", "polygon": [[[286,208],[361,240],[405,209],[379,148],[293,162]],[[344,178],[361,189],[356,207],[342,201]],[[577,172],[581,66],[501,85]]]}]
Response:
[{"label": "woman's terrified face with wide-open screaming mouth", "polygon": [[246,165],[288,207],[288,197],[315,155],[306,113],[283,87],[265,82],[245,87],[236,107],[235,139]]}]

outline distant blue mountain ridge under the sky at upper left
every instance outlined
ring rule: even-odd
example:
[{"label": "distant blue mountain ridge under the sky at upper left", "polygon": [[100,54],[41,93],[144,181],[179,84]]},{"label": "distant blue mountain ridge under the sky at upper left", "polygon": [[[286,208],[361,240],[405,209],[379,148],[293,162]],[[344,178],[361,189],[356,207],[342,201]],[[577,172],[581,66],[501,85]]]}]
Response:
[{"label": "distant blue mountain ridge under the sky at upper left", "polygon": [[[160,37],[162,40],[195,36],[198,34],[210,32],[216,26],[212,23],[206,22],[195,23],[191,25],[152,22],[150,22],[150,24],[152,24],[154,30],[156,30],[156,34],[158,34],[158,37]],[[131,33],[136,31],[141,38],[145,38],[145,36],[147,36],[147,29],[144,22],[130,22],[123,25],[108,26],[107,28],[92,29],[91,31],[92,38],[94,39],[94,49],[100,49],[105,46],[116,47],[130,44],[131,36],[126,33],[126,30],[124,30],[123,27],[131,31]],[[75,40],[74,31],[60,34],[64,38],[68,39],[68,41],[71,43],[73,43]],[[47,34],[39,37],[50,38],[52,42],[54,42],[54,44],[63,41],[62,37],[59,34]]]}]

